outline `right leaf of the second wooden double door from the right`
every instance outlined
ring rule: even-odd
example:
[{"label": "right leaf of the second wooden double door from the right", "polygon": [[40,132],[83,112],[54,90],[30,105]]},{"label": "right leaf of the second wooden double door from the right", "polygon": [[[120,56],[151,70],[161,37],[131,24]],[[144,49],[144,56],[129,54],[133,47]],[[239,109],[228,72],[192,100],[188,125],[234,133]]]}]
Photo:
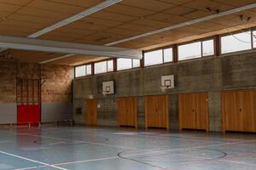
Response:
[{"label": "right leaf of the second wooden double door from the right", "polygon": [[195,94],[196,129],[208,131],[208,94]]}]

